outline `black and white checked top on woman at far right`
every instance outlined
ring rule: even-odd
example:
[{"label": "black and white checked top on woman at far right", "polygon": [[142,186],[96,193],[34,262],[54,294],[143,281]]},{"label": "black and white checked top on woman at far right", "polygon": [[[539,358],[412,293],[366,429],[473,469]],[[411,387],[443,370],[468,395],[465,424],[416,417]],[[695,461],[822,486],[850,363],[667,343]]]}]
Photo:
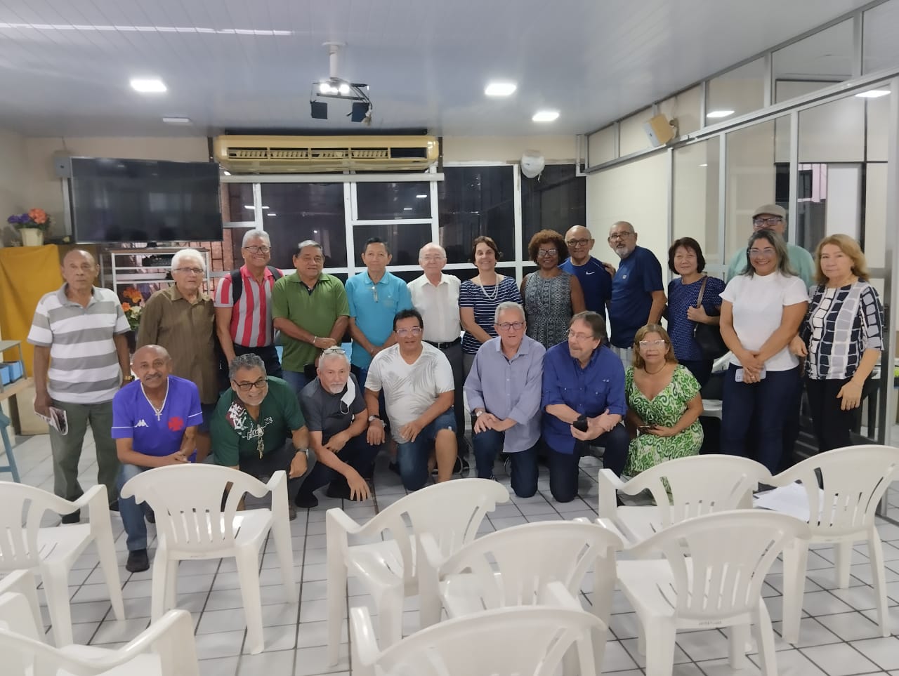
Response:
[{"label": "black and white checked top on woman at far right", "polygon": [[806,375],[813,380],[851,378],[866,350],[883,350],[884,308],[877,289],[858,280],[839,289],[809,289],[799,335],[808,346]]}]

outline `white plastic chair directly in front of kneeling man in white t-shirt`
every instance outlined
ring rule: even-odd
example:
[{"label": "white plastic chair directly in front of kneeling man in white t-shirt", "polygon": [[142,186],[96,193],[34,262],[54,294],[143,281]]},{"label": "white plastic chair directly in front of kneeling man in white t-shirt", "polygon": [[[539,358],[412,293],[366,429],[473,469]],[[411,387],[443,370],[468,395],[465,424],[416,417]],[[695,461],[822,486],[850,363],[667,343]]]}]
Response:
[{"label": "white plastic chair directly in front of kneeling man in white t-shirt", "polygon": [[[327,534],[328,659],[337,663],[346,578],[367,587],[378,609],[381,645],[403,636],[403,600],[418,593],[418,538],[431,533],[442,556],[473,540],[488,511],[509,500],[509,491],[489,479],[456,479],[408,494],[364,526],[343,510],[325,514]],[[407,524],[408,521],[408,524]],[[384,539],[389,536],[389,539]],[[352,538],[352,543],[351,543]],[[362,544],[356,544],[362,540]]]}]

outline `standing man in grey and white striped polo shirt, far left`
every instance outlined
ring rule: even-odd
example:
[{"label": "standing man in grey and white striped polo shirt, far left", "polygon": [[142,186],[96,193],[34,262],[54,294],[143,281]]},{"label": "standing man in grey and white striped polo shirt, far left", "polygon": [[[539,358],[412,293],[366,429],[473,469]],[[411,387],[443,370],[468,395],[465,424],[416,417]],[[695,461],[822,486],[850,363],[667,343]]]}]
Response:
[{"label": "standing man in grey and white striped polo shirt, far left", "polygon": [[[34,310],[28,342],[34,345],[34,410],[49,415],[49,407],[66,412],[66,435],[50,428],[53,451],[53,492],[66,500],[84,494],[78,484],[87,424],[97,451],[97,483],[105,485],[111,505],[118,509],[116,475],[119,458],[111,437],[112,397],[122,374],[131,381],[128,320],[119,298],[110,289],[93,286],[100,271],[91,254],[74,249],[62,262],[66,283],[45,294]],[[52,361],[51,361],[52,360]],[[76,523],[79,512],[66,514]]]}]

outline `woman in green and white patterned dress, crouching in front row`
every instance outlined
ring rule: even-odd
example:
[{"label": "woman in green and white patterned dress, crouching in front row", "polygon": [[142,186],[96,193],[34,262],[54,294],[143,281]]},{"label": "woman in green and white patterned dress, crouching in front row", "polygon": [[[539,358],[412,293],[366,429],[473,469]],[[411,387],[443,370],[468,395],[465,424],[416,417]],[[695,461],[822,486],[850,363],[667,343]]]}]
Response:
[{"label": "woman in green and white patterned dress, crouching in front row", "polygon": [[634,336],[634,365],[625,373],[632,440],[624,474],[636,476],[665,460],[686,458],[702,446],[699,383],[674,357],[672,340],[659,325]]}]

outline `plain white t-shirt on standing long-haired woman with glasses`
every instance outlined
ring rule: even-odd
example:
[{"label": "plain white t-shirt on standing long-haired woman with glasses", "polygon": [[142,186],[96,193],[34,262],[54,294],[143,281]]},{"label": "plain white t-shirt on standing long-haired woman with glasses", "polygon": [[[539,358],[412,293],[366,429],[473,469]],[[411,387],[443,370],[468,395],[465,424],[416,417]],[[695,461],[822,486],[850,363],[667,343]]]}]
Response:
[{"label": "plain white t-shirt on standing long-haired woman with glasses", "polygon": [[[778,330],[783,308],[806,302],[808,290],[801,277],[786,277],[774,271],[764,276],[737,275],[727,282],[721,298],[734,305],[736,337],[746,350],[756,351]],[[735,355],[730,362],[742,366]],[[786,371],[798,365],[799,360],[785,347],[765,362],[765,369]]]}]

